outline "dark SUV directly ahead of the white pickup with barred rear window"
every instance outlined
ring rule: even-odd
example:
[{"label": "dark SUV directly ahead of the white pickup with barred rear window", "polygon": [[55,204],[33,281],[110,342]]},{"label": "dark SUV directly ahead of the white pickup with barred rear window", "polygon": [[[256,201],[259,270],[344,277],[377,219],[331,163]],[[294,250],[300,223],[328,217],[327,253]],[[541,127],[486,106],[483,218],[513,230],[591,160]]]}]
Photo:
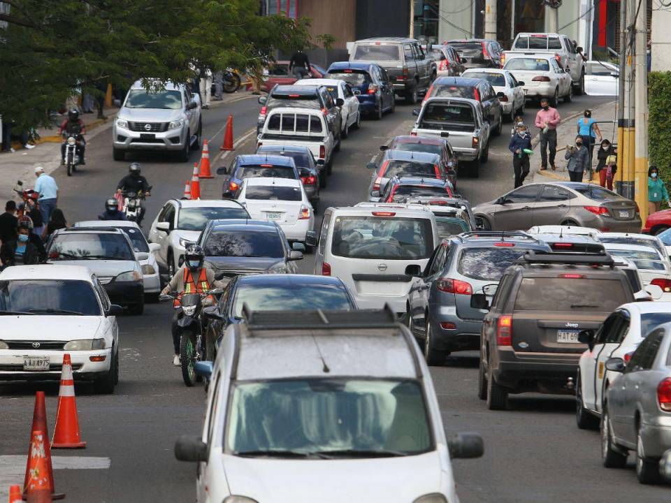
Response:
[{"label": "dark SUV directly ahead of the white pickup with barred rear window", "polygon": [[340,147],[340,127],[342,125],[342,116],[340,107],[345,104],[342,98],[333,99],[331,93],[324,86],[294,86],[294,85],[276,85],[270,90],[268,96],[259,96],[259,103],[264,105],[259,112],[257,121],[257,134],[264,129],[268,112],[273,108],[291,107],[291,108],[317,108],[324,110],[326,122],[333,131],[336,149]]}]

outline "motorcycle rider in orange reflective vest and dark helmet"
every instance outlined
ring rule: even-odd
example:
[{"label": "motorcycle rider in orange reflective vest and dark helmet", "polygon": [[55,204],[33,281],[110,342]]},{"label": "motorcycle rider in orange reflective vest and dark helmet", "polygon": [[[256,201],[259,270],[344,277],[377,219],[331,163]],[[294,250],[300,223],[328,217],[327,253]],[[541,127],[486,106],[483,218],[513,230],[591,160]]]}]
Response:
[{"label": "motorcycle rider in orange reflective vest and dark helmet", "polygon": [[[185,293],[205,293],[212,288],[224,286],[226,282],[215,281],[215,271],[204,265],[205,252],[200,245],[189,245],[184,254],[184,265],[175,273],[170,282],[161,291],[161,295],[171,292],[180,292],[178,298]],[[212,296],[203,299],[203,305],[212,305],[215,302]],[[175,309],[173,315],[173,347],[175,356],[173,365],[180,366],[180,327],[177,322],[180,311]]]}]

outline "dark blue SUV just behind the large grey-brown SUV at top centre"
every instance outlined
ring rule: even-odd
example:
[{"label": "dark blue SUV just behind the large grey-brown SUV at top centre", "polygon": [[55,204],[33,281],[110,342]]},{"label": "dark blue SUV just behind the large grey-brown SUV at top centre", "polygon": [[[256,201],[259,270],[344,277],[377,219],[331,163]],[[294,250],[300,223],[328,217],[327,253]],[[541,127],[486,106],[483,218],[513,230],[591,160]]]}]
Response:
[{"label": "dark blue SUV just behind the large grey-brown SUV at top centre", "polygon": [[394,86],[387,71],[378,64],[340,61],[329,66],[324,78],[345,80],[359,99],[361,111],[375,119],[382,119],[384,112],[394,112]]}]

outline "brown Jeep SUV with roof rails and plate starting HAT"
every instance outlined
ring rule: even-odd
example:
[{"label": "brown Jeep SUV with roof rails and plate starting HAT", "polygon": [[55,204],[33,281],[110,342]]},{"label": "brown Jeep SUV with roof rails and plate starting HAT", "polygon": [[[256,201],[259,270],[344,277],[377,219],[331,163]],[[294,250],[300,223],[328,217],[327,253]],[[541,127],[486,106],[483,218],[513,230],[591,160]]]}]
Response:
[{"label": "brown Jeep SUV with roof rails and plate starting HAT", "polygon": [[508,393],[574,393],[582,330],[598,329],[634,295],[611,256],[530,251],[507,268],[489,307],[484,294],[471,305],[489,309],[482,323],[478,396],[491,410]]}]

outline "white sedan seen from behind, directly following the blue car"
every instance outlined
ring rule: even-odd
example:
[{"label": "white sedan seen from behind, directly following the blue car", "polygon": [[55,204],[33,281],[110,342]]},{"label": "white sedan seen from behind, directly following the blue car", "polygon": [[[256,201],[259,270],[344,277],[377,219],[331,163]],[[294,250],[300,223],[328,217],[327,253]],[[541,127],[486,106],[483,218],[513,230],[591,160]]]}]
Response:
[{"label": "white sedan seen from behind, directly following the blue car", "polygon": [[315,228],[315,212],[301,180],[245,178],[236,198],[252,219],[274,221],[289,241],[304,243]]}]

